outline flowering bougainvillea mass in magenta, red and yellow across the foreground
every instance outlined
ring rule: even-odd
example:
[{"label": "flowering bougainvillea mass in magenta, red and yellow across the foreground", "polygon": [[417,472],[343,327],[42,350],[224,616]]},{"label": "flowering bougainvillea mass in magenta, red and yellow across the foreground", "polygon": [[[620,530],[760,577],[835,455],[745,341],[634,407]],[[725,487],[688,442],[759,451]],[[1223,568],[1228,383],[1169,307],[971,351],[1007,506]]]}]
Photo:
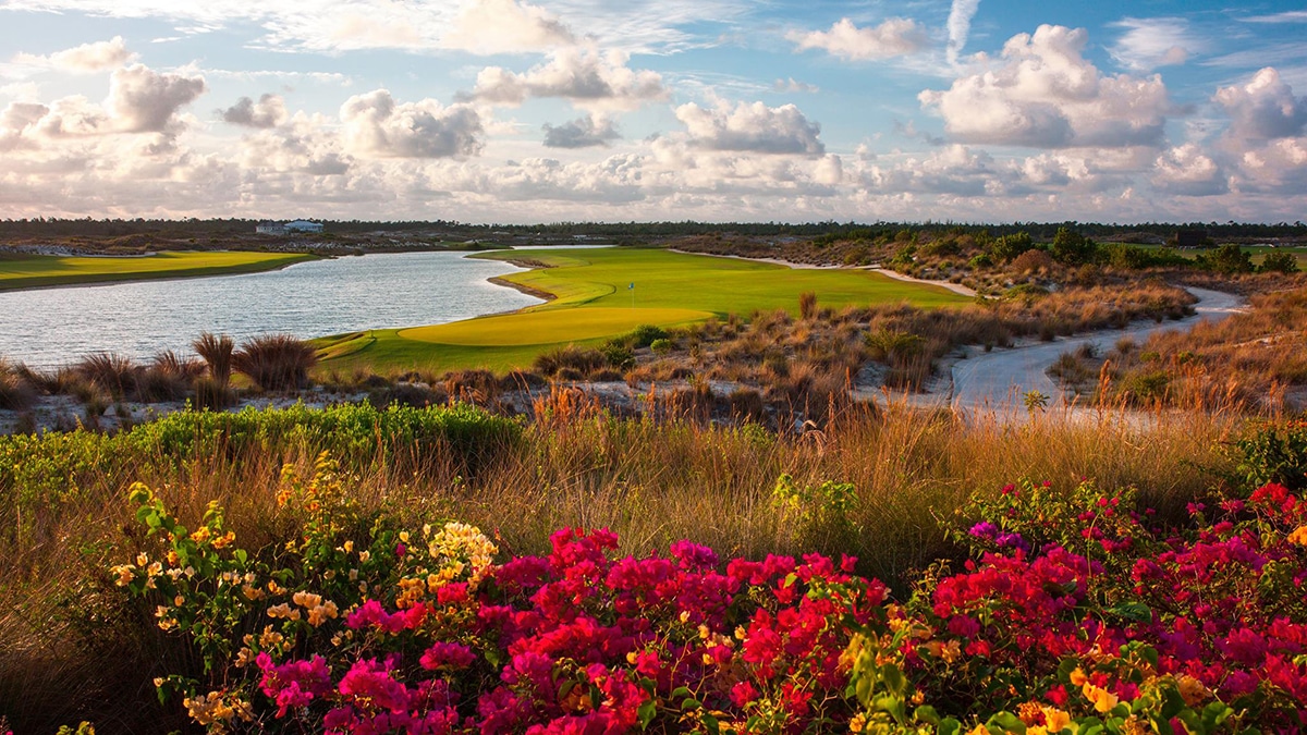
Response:
[{"label": "flowering bougainvillea mass in magenta, red and yellow across the foreground", "polygon": [[565,528],[502,555],[457,522],[365,517],[335,466],[286,472],[302,534],[243,549],[144,487],[115,566],[203,674],[156,681],[210,731],[1298,732],[1307,502],[1265,484],[1163,527],[1131,489],[1010,485],[966,557],[894,602],[823,556],[617,553]]}]

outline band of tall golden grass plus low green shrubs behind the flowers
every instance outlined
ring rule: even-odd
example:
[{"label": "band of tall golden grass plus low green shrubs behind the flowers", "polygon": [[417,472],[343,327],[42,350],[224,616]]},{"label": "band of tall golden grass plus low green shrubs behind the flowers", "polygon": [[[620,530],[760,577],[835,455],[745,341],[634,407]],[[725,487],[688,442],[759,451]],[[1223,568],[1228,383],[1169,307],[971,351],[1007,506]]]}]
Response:
[{"label": "band of tall golden grass plus low green shrubs behind the flowers", "polygon": [[860,572],[906,594],[914,569],[955,556],[944,532],[955,513],[1021,477],[1068,492],[1082,477],[1133,485],[1162,515],[1180,515],[1234,466],[1223,449],[1234,428],[1208,416],[965,424],[850,407],[796,436],[618,420],[567,392],[540,408],[531,425],[464,408],[352,407],[0,439],[0,636],[9,642],[0,711],[21,731],[86,718],[103,731],[182,727],[156,709],[150,679],[195,662],[169,654],[153,619],[122,607],[103,572],[144,543],[125,502],[137,480],[188,527],[218,501],[243,548],[276,549],[301,532],[276,502],[282,464],[307,476],[327,450],[367,518],[455,518],[512,553],[546,551],[565,526],[609,527],[634,555],[677,539],[752,558],[850,553]]}]

